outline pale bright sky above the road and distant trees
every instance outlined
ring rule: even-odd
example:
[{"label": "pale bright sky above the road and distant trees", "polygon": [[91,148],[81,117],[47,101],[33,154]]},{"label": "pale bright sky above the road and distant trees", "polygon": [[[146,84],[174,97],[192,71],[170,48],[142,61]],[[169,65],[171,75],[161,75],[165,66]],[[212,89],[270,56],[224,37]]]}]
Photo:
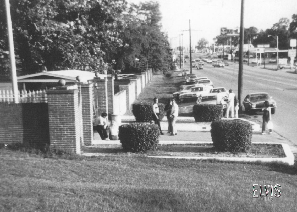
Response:
[{"label": "pale bright sky above the road and distant trees", "polygon": [[[139,0],[127,0],[138,4]],[[220,28],[240,27],[241,0],[155,0],[162,13],[162,31],[168,33],[171,45],[189,44],[189,20],[192,46],[205,38],[213,43]],[[270,29],[280,18],[292,21],[297,14],[297,0],[244,0],[244,28]]]}]

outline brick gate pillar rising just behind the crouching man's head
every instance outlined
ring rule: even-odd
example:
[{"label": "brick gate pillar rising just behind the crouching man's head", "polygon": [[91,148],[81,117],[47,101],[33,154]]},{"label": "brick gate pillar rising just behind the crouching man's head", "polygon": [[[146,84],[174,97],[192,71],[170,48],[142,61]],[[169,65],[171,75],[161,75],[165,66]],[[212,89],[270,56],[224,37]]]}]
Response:
[{"label": "brick gate pillar rising just behind the crouching man's head", "polygon": [[98,116],[101,116],[101,113],[103,112],[106,112],[108,114],[107,78],[94,78],[94,82],[96,85],[95,89],[97,90],[98,98]]}]

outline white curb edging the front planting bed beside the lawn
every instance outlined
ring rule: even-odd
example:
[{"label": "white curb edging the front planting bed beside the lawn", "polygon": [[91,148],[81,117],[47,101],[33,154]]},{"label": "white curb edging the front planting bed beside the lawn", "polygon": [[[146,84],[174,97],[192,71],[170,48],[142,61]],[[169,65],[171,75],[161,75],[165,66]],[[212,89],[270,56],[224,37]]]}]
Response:
[{"label": "white curb edging the front planting bed beside the lawn", "polygon": [[[159,144],[203,144],[207,143],[210,144],[212,142],[203,142],[203,141],[159,141]],[[290,146],[285,143],[270,143],[270,142],[252,142],[258,144],[280,144],[285,152],[285,157],[283,158],[248,158],[248,157],[206,157],[206,156],[147,156],[151,158],[175,158],[175,159],[195,159],[195,160],[208,160],[208,159],[216,159],[219,161],[226,161],[226,162],[263,162],[263,163],[273,163],[273,162],[281,162],[287,163],[288,165],[294,165],[294,155],[290,149]],[[119,140],[113,141],[105,141],[105,140],[94,140],[92,145],[121,145]],[[92,156],[94,154],[90,153],[83,153],[84,156]]]}]

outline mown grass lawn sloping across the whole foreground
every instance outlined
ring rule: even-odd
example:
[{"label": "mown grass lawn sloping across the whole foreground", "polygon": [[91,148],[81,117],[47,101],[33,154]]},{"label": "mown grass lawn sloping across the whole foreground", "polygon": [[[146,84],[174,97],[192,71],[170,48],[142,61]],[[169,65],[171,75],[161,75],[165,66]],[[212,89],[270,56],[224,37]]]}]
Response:
[{"label": "mown grass lawn sloping across the whole foreground", "polygon": [[[296,211],[296,163],[67,160],[4,149],[0,160],[0,211]],[[253,198],[252,185],[263,181],[280,184],[281,196]]]}]

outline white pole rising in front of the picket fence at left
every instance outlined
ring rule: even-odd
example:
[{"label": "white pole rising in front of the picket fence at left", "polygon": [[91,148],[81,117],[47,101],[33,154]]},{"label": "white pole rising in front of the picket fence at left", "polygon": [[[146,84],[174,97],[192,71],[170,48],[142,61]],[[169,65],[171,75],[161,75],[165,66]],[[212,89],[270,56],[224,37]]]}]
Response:
[{"label": "white pole rising in front of the picket fence at left", "polygon": [[12,34],[12,23],[11,23],[11,16],[10,16],[9,0],[5,0],[5,7],[6,7],[6,18],[7,18],[7,34],[8,34],[8,42],[9,42],[12,93],[13,93],[14,102],[19,103],[17,69],[16,69],[16,66],[15,66],[15,49],[14,49],[14,46],[13,46],[13,34]]}]

